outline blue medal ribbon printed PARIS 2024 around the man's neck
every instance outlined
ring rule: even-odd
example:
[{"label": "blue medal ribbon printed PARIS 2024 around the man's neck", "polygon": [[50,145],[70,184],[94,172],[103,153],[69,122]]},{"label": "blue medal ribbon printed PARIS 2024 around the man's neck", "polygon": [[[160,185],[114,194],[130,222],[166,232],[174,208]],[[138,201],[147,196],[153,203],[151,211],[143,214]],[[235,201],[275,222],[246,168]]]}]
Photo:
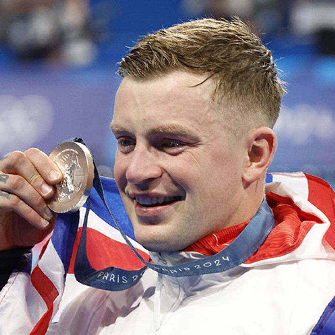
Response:
[{"label": "blue medal ribbon printed PARIS 2024 around the man's neck", "polygon": [[145,265],[139,270],[124,270],[117,267],[107,267],[103,270],[96,270],[90,265],[86,252],[87,217],[90,210],[90,200],[88,198],[86,202],[86,213],[83,222],[82,235],[75,260],[74,274],[79,282],[105,290],[118,291],[135,285],[142,277],[146,267],[158,273],[173,277],[199,276],[202,274],[226,271],[244,263],[250,256],[252,256],[266,240],[275,225],[272,211],[264,199],[255,216],[242,230],[239,236],[229,246],[216,255],[181,265],[163,266],[146,262],[123,232],[121,226],[108,207],[95,163],[93,187],[104,203],[104,206],[108,210],[122,237],[135,255]]}]

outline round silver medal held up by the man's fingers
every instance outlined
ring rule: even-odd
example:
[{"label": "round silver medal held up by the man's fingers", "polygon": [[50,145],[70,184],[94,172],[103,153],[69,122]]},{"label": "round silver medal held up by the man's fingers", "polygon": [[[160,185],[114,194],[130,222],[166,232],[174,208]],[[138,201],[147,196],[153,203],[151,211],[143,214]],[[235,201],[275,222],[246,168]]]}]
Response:
[{"label": "round silver medal held up by the man's fingers", "polygon": [[85,145],[63,142],[50,158],[57,164],[63,179],[56,185],[48,207],[56,213],[74,212],[86,201],[93,185],[93,159]]}]

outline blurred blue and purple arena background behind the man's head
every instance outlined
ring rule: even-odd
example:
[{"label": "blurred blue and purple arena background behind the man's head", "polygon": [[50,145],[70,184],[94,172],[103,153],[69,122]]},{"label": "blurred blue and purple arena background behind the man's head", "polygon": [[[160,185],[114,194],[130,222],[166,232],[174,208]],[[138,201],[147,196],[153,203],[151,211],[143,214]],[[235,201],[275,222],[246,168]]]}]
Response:
[{"label": "blurred blue and purple arena background behind the man's head", "polygon": [[117,62],[138,37],[197,17],[238,15],[273,51],[288,83],[270,171],[335,185],[335,1],[0,0],[0,156],[69,137],[111,175]]}]

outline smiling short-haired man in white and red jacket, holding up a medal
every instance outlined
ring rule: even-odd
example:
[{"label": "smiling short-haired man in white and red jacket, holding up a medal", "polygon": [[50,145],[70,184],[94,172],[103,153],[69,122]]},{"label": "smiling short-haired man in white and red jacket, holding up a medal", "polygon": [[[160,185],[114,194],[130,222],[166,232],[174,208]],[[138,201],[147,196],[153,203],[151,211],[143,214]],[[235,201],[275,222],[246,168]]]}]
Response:
[{"label": "smiling short-haired man in white and red jacket, holding up a medal", "polygon": [[[69,264],[59,256],[67,264],[64,272],[52,253],[67,239],[64,233],[57,237],[65,222],[59,219],[31,283],[24,274],[25,284],[18,284],[15,276],[24,271],[11,275],[0,295],[1,318],[28,312],[20,313],[19,325],[2,325],[2,331],[310,334],[335,293],[335,252],[326,235],[334,220],[334,193],[314,177],[279,174],[271,177],[278,182],[267,186],[264,200],[277,146],[271,128],[284,94],[270,51],[239,19],[203,19],[143,38],[121,61],[120,74],[111,123],[118,140],[115,180],[134,229],[133,244],[142,255],[148,250],[153,263],[138,275],[119,276],[113,268],[123,252],[114,246],[127,255],[129,248],[97,244],[109,254],[100,254],[106,263],[116,262],[105,264],[110,271],[95,266],[89,285],[98,282],[104,289],[78,283],[88,263],[101,261],[90,258],[89,249],[86,255],[83,239],[87,245],[90,234],[99,239],[97,227],[119,239],[104,225],[109,219],[93,194],[93,213],[83,218],[80,211],[76,241],[67,244]],[[0,171],[0,245],[13,259],[54,228],[45,200],[61,175],[37,149],[8,154]],[[108,194],[111,183],[104,181]],[[86,263],[79,271],[82,255]],[[136,268],[128,265],[123,269]],[[59,272],[60,279],[50,283],[43,271]],[[46,292],[36,278],[61,288]],[[13,287],[27,291],[17,305]]]}]

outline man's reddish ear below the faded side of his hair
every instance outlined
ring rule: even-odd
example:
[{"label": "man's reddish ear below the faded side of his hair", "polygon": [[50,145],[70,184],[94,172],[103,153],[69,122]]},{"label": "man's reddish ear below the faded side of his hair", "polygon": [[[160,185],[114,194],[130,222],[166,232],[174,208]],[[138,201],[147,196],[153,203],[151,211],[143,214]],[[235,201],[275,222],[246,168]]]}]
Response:
[{"label": "man's reddish ear below the faded side of his hair", "polygon": [[247,149],[243,179],[251,184],[261,178],[271,164],[277,149],[276,134],[268,127],[253,129],[247,136]]}]

